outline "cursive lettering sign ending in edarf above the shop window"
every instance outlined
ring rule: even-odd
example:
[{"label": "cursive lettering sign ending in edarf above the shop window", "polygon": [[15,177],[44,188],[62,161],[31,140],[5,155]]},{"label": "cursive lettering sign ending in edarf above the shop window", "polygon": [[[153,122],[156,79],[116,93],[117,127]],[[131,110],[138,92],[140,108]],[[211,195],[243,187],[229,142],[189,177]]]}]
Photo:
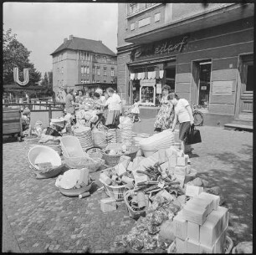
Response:
[{"label": "cursive lettering sign ending in edarf above the shop window", "polygon": [[187,44],[188,36],[184,36],[180,42],[173,43],[170,40],[164,40],[156,43],[148,43],[141,45],[131,51],[131,61],[139,59],[143,56],[155,56],[158,54],[170,54],[171,52],[182,52]]}]

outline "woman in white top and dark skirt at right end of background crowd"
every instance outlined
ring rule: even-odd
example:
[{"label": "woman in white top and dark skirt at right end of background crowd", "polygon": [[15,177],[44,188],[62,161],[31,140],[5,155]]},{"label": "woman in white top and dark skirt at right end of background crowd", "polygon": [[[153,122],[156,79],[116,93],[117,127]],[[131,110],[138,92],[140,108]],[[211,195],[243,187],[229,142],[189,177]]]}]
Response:
[{"label": "woman in white top and dark skirt at right end of background crowd", "polygon": [[119,125],[119,117],[121,111],[121,99],[120,96],[114,93],[114,89],[106,89],[109,98],[105,102],[105,106],[108,106],[109,112],[105,125],[108,125],[110,128],[116,128]]}]

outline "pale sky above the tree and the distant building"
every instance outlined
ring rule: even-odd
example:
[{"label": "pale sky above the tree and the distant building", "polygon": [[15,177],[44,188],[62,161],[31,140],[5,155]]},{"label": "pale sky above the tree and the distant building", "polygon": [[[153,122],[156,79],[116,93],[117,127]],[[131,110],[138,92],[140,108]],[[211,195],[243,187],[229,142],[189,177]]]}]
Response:
[{"label": "pale sky above the tree and the distant building", "polygon": [[44,77],[53,68],[49,54],[70,34],[101,40],[116,53],[117,3],[3,3],[8,28],[32,51],[29,59]]}]

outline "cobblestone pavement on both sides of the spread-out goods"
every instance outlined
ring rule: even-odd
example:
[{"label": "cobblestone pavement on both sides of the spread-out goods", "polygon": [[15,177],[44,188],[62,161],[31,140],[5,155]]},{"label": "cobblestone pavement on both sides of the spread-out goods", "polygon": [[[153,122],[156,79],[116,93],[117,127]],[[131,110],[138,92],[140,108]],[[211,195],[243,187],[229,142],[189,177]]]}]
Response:
[{"label": "cobblestone pavement on both sides of the spread-out goods", "polygon": [[[152,121],[146,121],[136,123],[135,130],[151,132]],[[207,171],[210,185],[222,188],[234,245],[252,241],[253,134],[222,127],[198,129],[202,143],[192,145],[192,168]],[[63,196],[54,186],[56,178],[34,178],[24,142],[3,144],[3,212],[21,252],[125,252],[115,249],[115,236],[128,233],[135,221],[124,202],[118,202],[115,212],[100,211],[105,191],[95,191],[101,186],[99,171],[91,176],[96,184],[90,197]],[[14,243],[13,249],[8,246],[13,252],[16,248]]]}]

